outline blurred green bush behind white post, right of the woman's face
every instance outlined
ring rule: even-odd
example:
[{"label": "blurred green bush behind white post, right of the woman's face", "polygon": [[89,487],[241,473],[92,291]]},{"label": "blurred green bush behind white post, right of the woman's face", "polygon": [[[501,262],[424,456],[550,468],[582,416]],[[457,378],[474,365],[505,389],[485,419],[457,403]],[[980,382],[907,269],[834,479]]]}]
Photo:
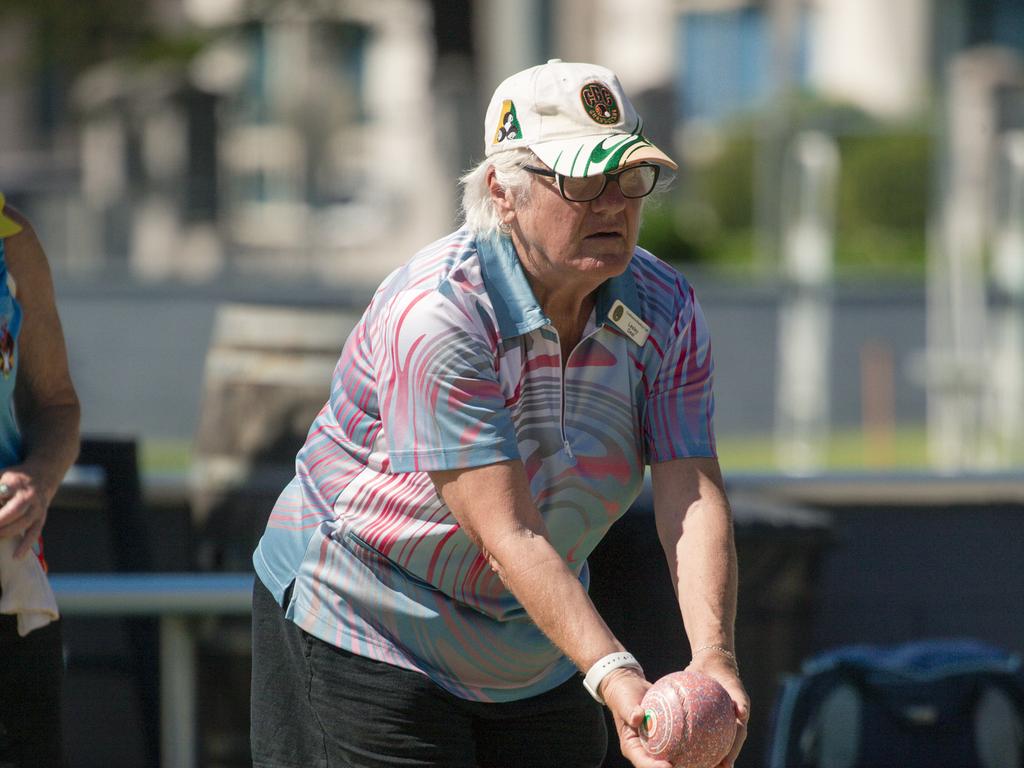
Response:
[{"label": "blurred green bush behind white post, right of the woman's face", "polygon": [[[932,152],[927,128],[879,122],[811,97],[795,114],[794,130],[821,130],[839,142],[837,264],[848,271],[922,270]],[[670,260],[755,268],[756,131],[750,118],[720,127],[717,151],[689,163],[681,188],[645,212],[641,245]]]}]

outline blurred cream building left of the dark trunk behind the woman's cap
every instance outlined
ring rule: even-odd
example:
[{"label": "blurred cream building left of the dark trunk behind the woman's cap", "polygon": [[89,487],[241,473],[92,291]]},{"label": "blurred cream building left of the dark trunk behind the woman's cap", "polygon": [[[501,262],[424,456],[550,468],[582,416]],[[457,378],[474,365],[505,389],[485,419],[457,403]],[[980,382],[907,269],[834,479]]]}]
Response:
[{"label": "blurred cream building left of the dark trunk behind the woman's cap", "polygon": [[[203,45],[184,59],[80,74],[49,141],[33,140],[31,119],[49,94],[7,94],[0,180],[50,233],[60,267],[337,283],[376,274],[441,231],[454,191],[441,191],[451,185],[430,119],[427,4],[188,0],[139,12]],[[38,160],[56,142],[61,165],[26,170],[26,151]]]}]

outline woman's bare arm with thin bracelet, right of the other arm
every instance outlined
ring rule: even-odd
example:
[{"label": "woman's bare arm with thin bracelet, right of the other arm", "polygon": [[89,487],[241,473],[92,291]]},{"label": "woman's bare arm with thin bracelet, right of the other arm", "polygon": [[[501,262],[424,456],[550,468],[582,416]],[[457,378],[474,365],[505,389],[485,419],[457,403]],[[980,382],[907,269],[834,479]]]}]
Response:
[{"label": "woman's bare arm with thin bracelet, right of the other arm", "polygon": [[657,532],[690,643],[690,668],[716,680],[736,708],[731,766],[746,738],[750,697],[739,681],[734,625],[738,583],[732,513],[716,459],[651,466]]}]

